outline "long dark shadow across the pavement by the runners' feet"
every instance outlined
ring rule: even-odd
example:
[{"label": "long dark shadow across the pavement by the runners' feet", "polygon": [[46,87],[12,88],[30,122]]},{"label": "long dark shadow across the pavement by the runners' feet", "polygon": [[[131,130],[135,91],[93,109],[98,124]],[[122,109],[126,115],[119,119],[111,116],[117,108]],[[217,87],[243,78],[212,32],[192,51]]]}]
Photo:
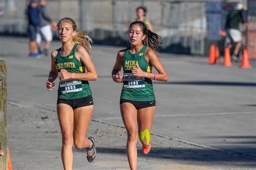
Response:
[{"label": "long dark shadow across the pavement by the runners' feet", "polygon": [[[126,157],[125,148],[107,148],[96,147],[97,152],[101,154],[121,154]],[[138,158],[154,158],[154,159],[166,159],[166,160],[178,160],[185,162],[200,162],[200,164],[206,165],[238,165],[240,167],[252,168],[256,167],[256,157],[247,158],[241,154],[223,153],[219,151],[200,149],[200,148],[164,148],[164,147],[152,147],[149,154],[144,155],[140,148],[138,149]],[[233,148],[236,150],[237,148]],[[240,151],[241,149],[238,148]],[[247,148],[250,149],[250,148]],[[85,151],[76,151],[85,152]]]}]

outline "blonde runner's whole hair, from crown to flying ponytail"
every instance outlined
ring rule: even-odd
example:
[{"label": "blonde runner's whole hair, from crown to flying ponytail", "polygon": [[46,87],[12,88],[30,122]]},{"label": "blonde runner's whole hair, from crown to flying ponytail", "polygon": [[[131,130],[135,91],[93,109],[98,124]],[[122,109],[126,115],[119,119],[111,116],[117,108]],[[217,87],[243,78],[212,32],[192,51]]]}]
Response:
[{"label": "blonde runner's whole hair, from crown to flying ponytail", "polygon": [[85,30],[77,31],[77,24],[72,18],[68,17],[60,19],[57,26],[59,26],[59,24],[63,22],[72,25],[73,31],[76,31],[75,36],[73,36],[73,41],[78,45],[82,45],[85,48],[85,50],[89,53],[89,55],[91,55],[92,39],[89,37],[89,35],[87,35],[87,32]]}]

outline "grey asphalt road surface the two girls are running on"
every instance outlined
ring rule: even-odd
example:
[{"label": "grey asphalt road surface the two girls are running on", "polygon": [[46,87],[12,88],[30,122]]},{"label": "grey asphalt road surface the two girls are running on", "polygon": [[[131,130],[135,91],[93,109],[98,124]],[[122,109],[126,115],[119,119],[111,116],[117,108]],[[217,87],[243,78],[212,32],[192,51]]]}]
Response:
[{"label": "grey asphalt road surface the two girls are running on", "polygon": [[[60,47],[53,42],[51,50]],[[98,80],[90,82],[95,110],[88,135],[98,155],[89,164],[74,148],[74,169],[127,169],[119,112],[121,84],[110,73],[122,47],[92,45]],[[207,57],[159,53],[169,82],[154,81],[157,111],[152,152],[138,142],[139,169],[256,169],[256,63],[252,69],[207,64]],[[57,89],[47,91],[50,57],[28,57],[28,39],[0,37],[8,65],[8,135],[15,169],[62,169]],[[155,71],[155,70],[154,70]]]}]

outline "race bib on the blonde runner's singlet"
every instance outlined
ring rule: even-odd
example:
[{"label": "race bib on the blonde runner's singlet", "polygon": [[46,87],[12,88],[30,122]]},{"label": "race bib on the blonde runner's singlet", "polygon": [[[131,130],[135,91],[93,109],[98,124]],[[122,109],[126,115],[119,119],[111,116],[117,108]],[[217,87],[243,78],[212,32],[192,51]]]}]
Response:
[{"label": "race bib on the blonde runner's singlet", "polygon": [[60,80],[59,81],[60,90],[62,94],[70,92],[82,91],[82,81],[81,80]]}]

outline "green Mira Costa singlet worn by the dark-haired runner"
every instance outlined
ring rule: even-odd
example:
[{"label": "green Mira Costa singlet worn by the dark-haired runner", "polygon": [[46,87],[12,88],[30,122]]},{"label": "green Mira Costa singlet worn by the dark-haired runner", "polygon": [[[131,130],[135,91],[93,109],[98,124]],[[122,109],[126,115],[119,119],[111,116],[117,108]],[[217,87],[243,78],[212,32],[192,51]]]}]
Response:
[{"label": "green Mira Costa singlet worn by the dark-haired runner", "polygon": [[152,72],[152,65],[145,59],[147,46],[144,45],[136,54],[130,53],[130,47],[124,52],[122,65],[124,70],[124,82],[121,92],[121,99],[135,101],[152,101],[155,100],[152,80],[149,78],[132,75],[132,68],[139,65],[140,69],[145,72]]}]

